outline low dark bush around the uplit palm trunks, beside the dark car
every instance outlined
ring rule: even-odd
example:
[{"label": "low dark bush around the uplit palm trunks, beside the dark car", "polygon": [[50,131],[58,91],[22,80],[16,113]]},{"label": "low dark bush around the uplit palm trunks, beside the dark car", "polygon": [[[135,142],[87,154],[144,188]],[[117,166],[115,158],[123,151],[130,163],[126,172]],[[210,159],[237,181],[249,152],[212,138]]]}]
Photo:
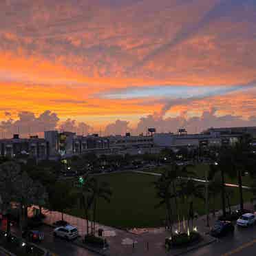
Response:
[{"label": "low dark bush around the uplit palm trunks, beside the dark car", "polygon": [[193,242],[198,242],[201,236],[198,232],[192,231],[190,235],[187,233],[181,233],[178,235],[173,235],[171,239],[166,238],[165,244],[168,246],[188,246]]}]

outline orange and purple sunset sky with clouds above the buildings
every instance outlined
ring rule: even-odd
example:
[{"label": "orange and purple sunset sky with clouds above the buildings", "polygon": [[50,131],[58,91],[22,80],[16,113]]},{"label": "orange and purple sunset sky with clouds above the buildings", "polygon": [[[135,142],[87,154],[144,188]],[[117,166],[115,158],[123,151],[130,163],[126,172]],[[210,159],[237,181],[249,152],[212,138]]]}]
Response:
[{"label": "orange and purple sunset sky with clouds above the buildings", "polygon": [[2,132],[256,126],[255,0],[1,0],[0,14]]}]

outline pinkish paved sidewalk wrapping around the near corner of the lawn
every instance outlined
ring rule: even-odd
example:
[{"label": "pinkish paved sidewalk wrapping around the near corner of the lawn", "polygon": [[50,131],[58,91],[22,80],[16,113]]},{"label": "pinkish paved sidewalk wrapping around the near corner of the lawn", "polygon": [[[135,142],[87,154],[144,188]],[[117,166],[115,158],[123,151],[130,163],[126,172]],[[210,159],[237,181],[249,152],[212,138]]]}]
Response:
[{"label": "pinkish paved sidewalk wrapping around the near corner of the lawn", "polygon": [[[245,204],[246,209],[251,209],[251,204]],[[238,209],[238,206],[233,206],[233,210]],[[46,217],[45,224],[52,225],[57,220],[61,220],[61,213],[56,211],[45,211]],[[29,214],[32,214],[32,209],[30,209]],[[222,214],[222,211],[216,212],[216,217],[210,215],[210,226],[213,225],[215,220],[219,215]],[[83,237],[85,235],[87,226],[86,221],[80,217],[74,217],[72,215],[64,214],[64,220],[70,224],[76,226],[80,235]],[[205,246],[211,242],[215,242],[213,237],[207,235],[210,228],[206,227],[206,215],[198,217],[194,220],[194,227],[198,228],[198,231],[204,235],[204,240],[198,246]],[[98,228],[103,228],[104,236],[107,238],[109,243],[109,248],[104,251],[105,255],[111,256],[156,256],[156,255],[169,255],[175,256],[184,253],[184,249],[171,249],[166,251],[164,248],[164,239],[169,237],[169,231],[166,231],[164,228],[142,228],[136,229],[134,232],[124,231],[118,228],[105,226],[101,224],[96,224],[96,231]],[[177,224],[173,225],[173,231],[178,229]],[[77,243],[76,243],[77,244]]]}]

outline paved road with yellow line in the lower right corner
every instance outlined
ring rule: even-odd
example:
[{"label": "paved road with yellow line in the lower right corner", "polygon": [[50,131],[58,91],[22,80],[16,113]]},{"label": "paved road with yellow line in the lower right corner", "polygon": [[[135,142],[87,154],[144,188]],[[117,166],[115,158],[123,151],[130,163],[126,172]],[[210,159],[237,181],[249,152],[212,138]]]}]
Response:
[{"label": "paved road with yellow line in the lower right corner", "polygon": [[228,235],[215,242],[188,253],[189,256],[255,256],[256,255],[256,226],[248,228],[235,227],[234,235]]}]

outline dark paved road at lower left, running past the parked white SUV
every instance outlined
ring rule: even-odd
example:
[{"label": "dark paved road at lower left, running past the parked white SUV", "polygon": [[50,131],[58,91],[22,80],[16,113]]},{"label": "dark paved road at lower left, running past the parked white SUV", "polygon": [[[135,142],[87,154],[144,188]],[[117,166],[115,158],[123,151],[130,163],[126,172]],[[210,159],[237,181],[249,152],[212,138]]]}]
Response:
[{"label": "dark paved road at lower left, running past the parked white SUV", "polygon": [[[15,233],[15,228],[13,228]],[[97,254],[92,253],[85,248],[78,247],[72,242],[67,242],[65,239],[54,237],[52,235],[53,228],[49,226],[41,226],[40,231],[44,233],[43,242],[39,243],[39,246],[50,250],[52,253],[56,253],[58,256],[96,256]],[[98,256],[98,255],[97,255]]]}]

